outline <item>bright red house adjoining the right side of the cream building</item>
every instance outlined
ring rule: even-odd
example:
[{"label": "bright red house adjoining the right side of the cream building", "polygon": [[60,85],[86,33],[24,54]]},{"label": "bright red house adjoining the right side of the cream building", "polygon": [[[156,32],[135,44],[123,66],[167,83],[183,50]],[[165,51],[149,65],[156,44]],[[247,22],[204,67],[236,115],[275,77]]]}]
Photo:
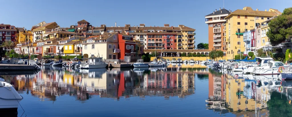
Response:
[{"label": "bright red house adjoining the right side of the cream building", "polygon": [[130,36],[129,33],[119,33],[118,41],[118,48],[120,49],[120,55],[118,59],[124,59],[125,56],[136,56],[136,42],[133,41],[133,36]]}]

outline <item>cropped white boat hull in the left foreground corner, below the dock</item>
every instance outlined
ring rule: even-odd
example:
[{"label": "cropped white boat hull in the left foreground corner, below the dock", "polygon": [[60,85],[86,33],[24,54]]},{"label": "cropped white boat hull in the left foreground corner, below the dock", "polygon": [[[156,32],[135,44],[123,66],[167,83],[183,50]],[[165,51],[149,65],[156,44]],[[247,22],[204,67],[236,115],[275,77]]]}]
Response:
[{"label": "cropped white boat hull in the left foreground corner, below the dock", "polygon": [[22,96],[7,82],[0,81],[0,109],[17,111]]}]

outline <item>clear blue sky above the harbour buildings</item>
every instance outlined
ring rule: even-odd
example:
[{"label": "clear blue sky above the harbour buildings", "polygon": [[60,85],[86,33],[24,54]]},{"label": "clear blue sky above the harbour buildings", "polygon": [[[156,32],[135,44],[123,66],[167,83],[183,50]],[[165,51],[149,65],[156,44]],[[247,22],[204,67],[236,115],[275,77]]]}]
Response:
[{"label": "clear blue sky above the harbour buildings", "polygon": [[[224,8],[234,11],[249,6],[253,10],[274,8],[283,12],[291,4],[292,0],[225,0]],[[1,24],[27,30],[41,21],[55,21],[61,27],[69,27],[82,19],[92,26],[106,24],[108,27],[115,22],[117,26],[182,24],[196,29],[196,44],[199,44],[208,43],[205,16],[223,8],[223,0],[3,0],[1,5],[4,6]]]}]

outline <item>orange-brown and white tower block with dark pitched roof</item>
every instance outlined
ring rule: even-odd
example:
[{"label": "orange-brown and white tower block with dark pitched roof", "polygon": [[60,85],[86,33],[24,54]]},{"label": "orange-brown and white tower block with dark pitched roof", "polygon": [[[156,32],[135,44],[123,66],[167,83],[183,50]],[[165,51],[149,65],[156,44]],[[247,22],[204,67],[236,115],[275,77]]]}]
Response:
[{"label": "orange-brown and white tower block with dark pitched roof", "polygon": [[209,43],[209,50],[212,51],[213,49],[219,49],[224,52],[225,44],[224,44],[224,37],[225,37],[225,26],[224,23],[226,16],[230,14],[230,11],[226,9],[221,9],[213,11],[213,13],[205,16],[205,23],[208,24],[208,43]]}]

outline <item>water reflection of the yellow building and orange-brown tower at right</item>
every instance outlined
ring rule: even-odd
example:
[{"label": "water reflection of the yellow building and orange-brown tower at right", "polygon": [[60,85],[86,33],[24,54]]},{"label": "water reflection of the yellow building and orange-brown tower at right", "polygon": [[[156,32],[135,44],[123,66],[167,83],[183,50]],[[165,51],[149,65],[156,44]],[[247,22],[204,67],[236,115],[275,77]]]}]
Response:
[{"label": "water reflection of the yellow building and orange-brown tower at right", "polygon": [[229,75],[209,74],[209,97],[206,108],[220,114],[268,116],[269,90],[277,84],[270,80],[235,79]]}]

